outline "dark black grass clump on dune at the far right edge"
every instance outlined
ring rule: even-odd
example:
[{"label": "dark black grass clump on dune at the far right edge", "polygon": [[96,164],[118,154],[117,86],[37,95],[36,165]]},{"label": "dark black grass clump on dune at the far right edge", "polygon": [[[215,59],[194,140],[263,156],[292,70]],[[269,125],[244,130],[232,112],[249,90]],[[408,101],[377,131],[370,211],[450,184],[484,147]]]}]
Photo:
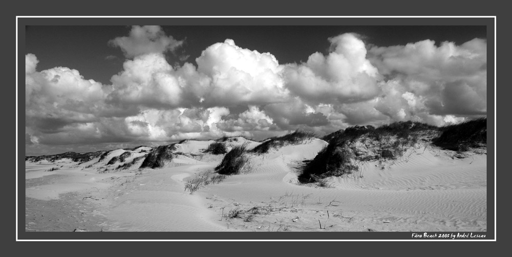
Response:
[{"label": "dark black grass clump on dune at the far right edge", "polygon": [[487,144],[487,118],[444,126],[440,130],[441,135],[433,143],[443,149],[463,152]]}]

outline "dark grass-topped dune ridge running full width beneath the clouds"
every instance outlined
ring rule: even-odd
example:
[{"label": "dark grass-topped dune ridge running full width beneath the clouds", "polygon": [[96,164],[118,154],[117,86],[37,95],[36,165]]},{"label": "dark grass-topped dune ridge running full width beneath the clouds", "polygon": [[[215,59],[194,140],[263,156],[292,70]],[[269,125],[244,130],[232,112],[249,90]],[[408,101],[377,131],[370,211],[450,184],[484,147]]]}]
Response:
[{"label": "dark grass-topped dune ridge running full width beneath the clouds", "polygon": [[[396,122],[378,128],[373,126],[354,126],[323,136],[321,139],[328,144],[311,160],[306,160],[299,170],[298,181],[302,183],[318,182],[329,176],[340,176],[358,170],[356,163],[374,160],[391,160],[399,158],[407,149],[420,143],[431,144],[445,150],[462,153],[472,149],[486,147],[486,118],[466,121],[461,124],[435,127],[418,122]],[[271,137],[262,142],[254,142],[244,137],[223,137],[216,141],[208,141],[204,149],[195,149],[191,154],[226,154],[216,170],[220,174],[233,175],[244,165],[246,154],[265,154],[270,149],[276,149],[289,144],[301,144],[308,138],[317,136],[309,131],[297,130],[284,136]],[[190,141],[190,140],[187,140]],[[180,143],[150,148],[139,146],[132,149],[114,151],[97,151],[89,153],[66,152],[55,155],[26,156],[25,160],[38,162],[46,160],[55,162],[71,159],[73,162],[90,162],[98,158],[98,163],[108,157],[100,167],[102,171],[129,168],[163,168],[171,161]],[[192,141],[194,142],[194,141]],[[250,145],[248,143],[251,143]],[[227,146],[226,146],[227,145]],[[229,151],[235,151],[229,153]],[[118,154],[118,155],[116,155]],[[234,157],[237,156],[237,157]],[[238,159],[237,161],[235,159]],[[142,160],[142,162],[140,162]],[[139,163],[137,167],[136,164]],[[111,166],[120,163],[116,168]],[[239,166],[239,167],[230,167]],[[105,168],[110,167],[110,168]],[[229,171],[228,171],[229,170]]]}]

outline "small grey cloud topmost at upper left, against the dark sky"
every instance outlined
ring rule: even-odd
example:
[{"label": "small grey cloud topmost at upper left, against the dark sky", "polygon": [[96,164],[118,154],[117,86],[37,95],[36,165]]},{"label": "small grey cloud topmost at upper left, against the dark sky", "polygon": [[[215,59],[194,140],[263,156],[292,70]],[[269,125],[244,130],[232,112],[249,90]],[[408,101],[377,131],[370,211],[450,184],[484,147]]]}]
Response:
[{"label": "small grey cloud topmost at upper left, against the dark sky", "polygon": [[148,53],[175,51],[183,40],[166,36],[160,26],[132,26],[129,36],[116,37],[109,44],[119,47],[127,58],[133,58]]}]

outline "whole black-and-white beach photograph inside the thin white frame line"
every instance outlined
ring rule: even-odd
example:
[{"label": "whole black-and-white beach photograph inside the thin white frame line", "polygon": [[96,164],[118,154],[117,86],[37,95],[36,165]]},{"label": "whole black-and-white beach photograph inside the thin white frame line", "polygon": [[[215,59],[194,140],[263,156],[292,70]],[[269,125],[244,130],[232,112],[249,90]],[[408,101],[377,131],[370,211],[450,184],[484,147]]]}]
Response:
[{"label": "whole black-and-white beach photograph inside the thin white frame line", "polygon": [[226,19],[24,27],[25,232],[488,239],[487,26]]}]

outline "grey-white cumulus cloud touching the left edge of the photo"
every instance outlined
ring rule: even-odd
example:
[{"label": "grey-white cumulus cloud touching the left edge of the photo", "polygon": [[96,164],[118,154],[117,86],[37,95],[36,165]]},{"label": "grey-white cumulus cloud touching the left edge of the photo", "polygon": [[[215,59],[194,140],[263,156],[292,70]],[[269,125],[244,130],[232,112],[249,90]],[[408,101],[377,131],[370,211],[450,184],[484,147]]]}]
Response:
[{"label": "grey-white cumulus cloud touching the left edge of the photo", "polygon": [[64,144],[70,139],[98,139],[96,126],[109,110],[104,103],[109,87],[84,79],[75,69],[54,67],[37,72],[36,65],[37,58],[27,54],[25,116],[30,142]]}]

